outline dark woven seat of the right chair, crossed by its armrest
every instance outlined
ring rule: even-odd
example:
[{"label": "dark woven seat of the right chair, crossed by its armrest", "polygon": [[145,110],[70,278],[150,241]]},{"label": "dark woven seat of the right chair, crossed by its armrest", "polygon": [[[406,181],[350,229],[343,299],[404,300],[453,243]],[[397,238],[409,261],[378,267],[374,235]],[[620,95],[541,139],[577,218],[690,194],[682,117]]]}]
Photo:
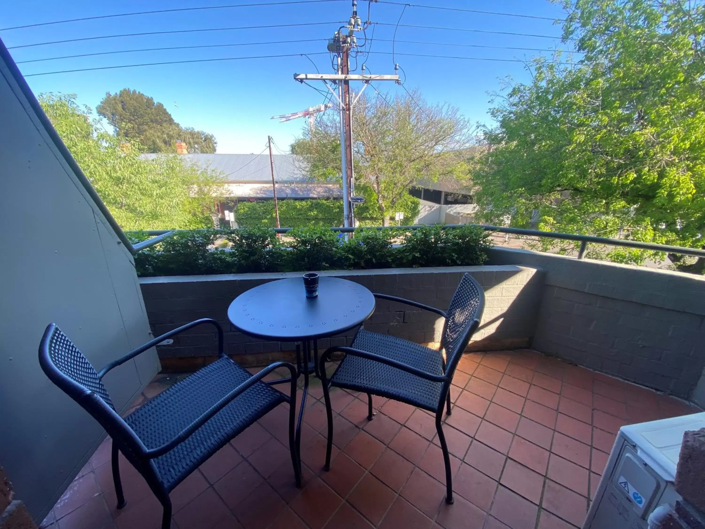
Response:
[{"label": "dark woven seat of the right chair, crossed by its armrest", "polygon": [[[391,358],[431,375],[443,375],[441,353],[418,343],[360,329],[352,346]],[[441,399],[441,382],[422,379],[367,358],[346,355],[331,377],[334,386],[385,396],[429,411],[436,411]]]}]

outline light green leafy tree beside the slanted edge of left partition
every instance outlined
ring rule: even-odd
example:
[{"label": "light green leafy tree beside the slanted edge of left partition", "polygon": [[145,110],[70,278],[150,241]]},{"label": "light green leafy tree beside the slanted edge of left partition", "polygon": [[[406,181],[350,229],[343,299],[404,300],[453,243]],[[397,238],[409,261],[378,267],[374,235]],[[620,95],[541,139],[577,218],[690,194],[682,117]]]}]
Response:
[{"label": "light green leafy tree beside the slanted edge of left partition", "polygon": [[[219,177],[178,156],[140,159],[140,145],[121,140],[90,119],[75,95],[39,96],[42,109],[105,205],[125,230],[212,226]],[[123,152],[124,151],[124,152]]]}]

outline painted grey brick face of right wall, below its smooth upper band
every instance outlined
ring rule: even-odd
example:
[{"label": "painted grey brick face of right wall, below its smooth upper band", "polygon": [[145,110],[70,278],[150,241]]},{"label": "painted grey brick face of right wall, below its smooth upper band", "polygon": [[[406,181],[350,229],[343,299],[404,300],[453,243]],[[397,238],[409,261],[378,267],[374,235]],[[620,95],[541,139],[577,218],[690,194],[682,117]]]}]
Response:
[{"label": "painted grey brick face of right wall, below its smooth upper band", "polygon": [[705,364],[702,322],[688,312],[546,286],[534,348],[687,397]]}]

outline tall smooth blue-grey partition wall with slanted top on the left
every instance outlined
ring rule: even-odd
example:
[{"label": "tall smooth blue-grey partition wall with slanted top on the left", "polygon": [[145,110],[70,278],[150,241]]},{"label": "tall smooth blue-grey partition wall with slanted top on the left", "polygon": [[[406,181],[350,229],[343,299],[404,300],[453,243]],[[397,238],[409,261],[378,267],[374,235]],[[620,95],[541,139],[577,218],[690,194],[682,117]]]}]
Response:
[{"label": "tall smooth blue-grey partition wall with slanted top on the left", "polygon": [[[40,369],[44,328],[59,324],[98,368],[151,336],[132,257],[31,97],[0,59],[0,467],[39,522],[104,437]],[[108,375],[116,407],[158,370],[149,351]]]}]

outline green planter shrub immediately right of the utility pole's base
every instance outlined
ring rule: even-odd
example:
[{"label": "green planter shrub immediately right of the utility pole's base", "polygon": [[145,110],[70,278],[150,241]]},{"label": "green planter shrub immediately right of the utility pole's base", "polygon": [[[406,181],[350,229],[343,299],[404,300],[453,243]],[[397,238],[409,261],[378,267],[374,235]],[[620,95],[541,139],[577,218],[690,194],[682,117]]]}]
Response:
[{"label": "green planter shrub immediately right of the utility pole's base", "polygon": [[352,269],[393,267],[397,250],[393,248],[392,241],[399,235],[393,229],[355,230],[355,237],[349,238],[341,247],[345,264]]}]

